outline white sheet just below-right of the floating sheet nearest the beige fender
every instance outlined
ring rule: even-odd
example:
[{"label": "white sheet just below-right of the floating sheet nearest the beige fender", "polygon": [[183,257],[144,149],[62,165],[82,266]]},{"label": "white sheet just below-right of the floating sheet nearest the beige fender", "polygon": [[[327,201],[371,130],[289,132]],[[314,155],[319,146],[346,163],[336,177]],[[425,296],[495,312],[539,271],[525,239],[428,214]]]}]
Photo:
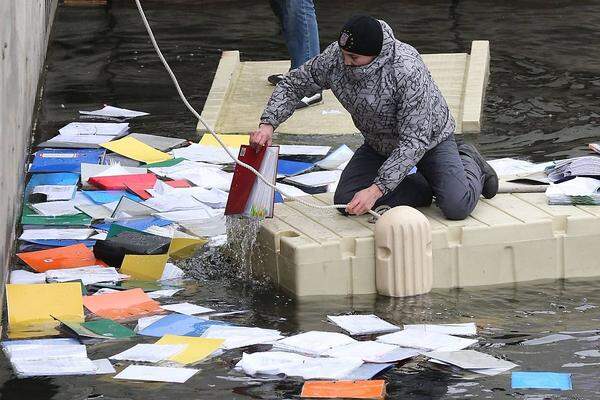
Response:
[{"label": "white sheet just below-right of the floating sheet nearest the beige fender", "polygon": [[388,333],[387,335],[379,336],[377,341],[402,347],[435,351],[457,351],[477,343],[475,339],[464,339],[435,332],[423,332],[418,329]]}]

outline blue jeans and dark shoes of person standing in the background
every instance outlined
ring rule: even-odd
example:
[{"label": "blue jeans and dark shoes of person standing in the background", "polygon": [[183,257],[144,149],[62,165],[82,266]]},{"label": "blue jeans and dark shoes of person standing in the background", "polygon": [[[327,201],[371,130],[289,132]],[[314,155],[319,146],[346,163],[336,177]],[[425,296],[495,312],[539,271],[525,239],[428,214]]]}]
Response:
[{"label": "blue jeans and dark shoes of person standing in the background", "polygon": [[[313,0],[269,0],[273,12],[279,19],[281,30],[291,58],[290,70],[296,69],[321,52],[319,28]],[[271,75],[269,83],[277,85],[284,74]],[[323,100],[322,92],[303,97],[296,109],[304,108]]]}]

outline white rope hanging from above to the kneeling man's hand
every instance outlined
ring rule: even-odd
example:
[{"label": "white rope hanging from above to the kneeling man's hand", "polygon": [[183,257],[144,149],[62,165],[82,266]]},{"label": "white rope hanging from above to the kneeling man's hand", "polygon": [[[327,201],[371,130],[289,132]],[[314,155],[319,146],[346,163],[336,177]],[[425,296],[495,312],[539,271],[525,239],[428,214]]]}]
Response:
[{"label": "white rope hanging from above to the kneeling man's hand", "polygon": [[[256,169],[254,169],[254,167],[252,167],[251,165],[246,164],[243,161],[240,161],[227,148],[227,146],[225,145],[225,143],[223,143],[223,141],[221,140],[221,138],[219,137],[219,135],[217,135],[217,133],[210,126],[208,126],[208,124],[202,119],[202,117],[200,116],[200,114],[198,114],[198,112],[194,109],[194,107],[192,107],[192,105],[190,104],[190,102],[187,100],[187,98],[183,94],[183,91],[181,90],[181,86],[179,86],[179,82],[177,81],[177,78],[175,77],[175,74],[173,73],[173,70],[171,70],[171,67],[167,63],[167,60],[165,60],[165,57],[163,56],[160,48],[158,47],[158,43],[156,43],[156,39],[154,38],[154,33],[152,32],[152,29],[150,28],[150,24],[148,23],[148,19],[146,18],[146,14],[144,13],[144,9],[142,8],[140,0],[135,0],[135,4],[137,5],[137,8],[138,8],[138,10],[140,12],[140,15],[142,17],[142,21],[144,22],[144,26],[146,27],[146,31],[148,32],[148,36],[150,36],[150,41],[152,42],[152,45],[154,46],[154,50],[156,50],[156,54],[158,55],[158,58],[160,58],[160,61],[163,63],[163,65],[165,66],[165,69],[169,73],[169,76],[171,77],[171,80],[173,81],[173,84],[175,85],[175,88],[177,89],[177,93],[179,94],[179,97],[181,98],[181,101],[183,101],[183,104],[185,104],[185,106],[188,108],[188,110],[190,110],[190,112],[192,114],[194,114],[194,116],[198,119],[198,121],[200,121],[202,123],[202,125],[204,125],[204,127],[210,132],[210,134],[213,135],[213,137],[217,140],[217,142],[221,145],[221,147],[223,147],[223,149],[227,152],[227,154],[229,155],[229,157],[231,157],[231,159],[237,165],[249,169],[250,171],[252,171],[252,173],[254,175],[256,175],[257,178],[259,178],[261,181],[263,181],[267,186],[269,186],[270,188],[272,188],[275,191],[277,191],[277,192],[281,193],[282,195],[284,195],[283,192],[281,192],[281,190],[279,190],[274,184],[272,184],[271,182],[269,182]],[[319,204],[309,203],[309,202],[307,202],[307,201],[305,201],[303,199],[300,199],[299,197],[296,197],[296,196],[287,196],[287,195],[284,195],[284,196],[287,197],[287,198],[290,198],[290,199],[292,199],[294,201],[297,201],[298,203],[303,204],[305,206],[313,207],[313,208],[318,208],[318,209],[346,208],[346,206],[347,206],[347,204],[319,205]],[[376,213],[375,211],[373,211],[373,210],[369,210],[369,214],[373,215],[376,218],[380,217],[380,215],[378,213]]]}]

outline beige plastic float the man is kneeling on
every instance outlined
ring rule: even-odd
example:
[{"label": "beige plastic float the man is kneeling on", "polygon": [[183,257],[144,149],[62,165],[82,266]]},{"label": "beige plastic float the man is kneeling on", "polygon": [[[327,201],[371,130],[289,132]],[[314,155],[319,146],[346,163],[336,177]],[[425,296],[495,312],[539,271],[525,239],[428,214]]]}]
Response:
[{"label": "beige plastic float the man is kneeling on", "polygon": [[[306,199],[331,204],[332,194]],[[446,220],[435,206],[419,211],[431,229],[432,288],[600,276],[600,207],[551,206],[543,193],[518,193],[482,199],[463,221]],[[277,204],[259,231],[254,273],[296,296],[377,293],[386,284],[377,284],[375,224],[368,220]],[[410,268],[407,260],[399,264]],[[424,291],[387,286],[387,294]]]}]

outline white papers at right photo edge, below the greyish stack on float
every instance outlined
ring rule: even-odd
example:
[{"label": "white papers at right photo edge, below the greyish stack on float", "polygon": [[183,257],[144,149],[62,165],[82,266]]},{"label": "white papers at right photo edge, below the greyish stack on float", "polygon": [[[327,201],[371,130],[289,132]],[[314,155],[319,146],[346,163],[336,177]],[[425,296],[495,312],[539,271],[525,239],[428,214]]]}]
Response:
[{"label": "white papers at right photo edge, below the greyish stack on float", "polygon": [[555,183],[546,189],[548,204],[600,204],[600,179],[576,177]]}]

